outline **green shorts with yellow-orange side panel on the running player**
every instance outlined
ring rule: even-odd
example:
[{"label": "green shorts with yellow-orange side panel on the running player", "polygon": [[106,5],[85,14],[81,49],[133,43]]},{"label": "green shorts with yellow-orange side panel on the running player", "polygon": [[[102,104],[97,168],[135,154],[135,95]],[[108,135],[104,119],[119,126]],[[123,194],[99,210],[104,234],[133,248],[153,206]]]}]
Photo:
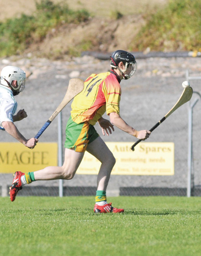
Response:
[{"label": "green shorts with yellow-orange side panel on the running player", "polygon": [[99,134],[88,122],[77,124],[70,117],[66,125],[66,142],[64,147],[75,147],[76,152],[84,152],[89,143],[98,138]]}]

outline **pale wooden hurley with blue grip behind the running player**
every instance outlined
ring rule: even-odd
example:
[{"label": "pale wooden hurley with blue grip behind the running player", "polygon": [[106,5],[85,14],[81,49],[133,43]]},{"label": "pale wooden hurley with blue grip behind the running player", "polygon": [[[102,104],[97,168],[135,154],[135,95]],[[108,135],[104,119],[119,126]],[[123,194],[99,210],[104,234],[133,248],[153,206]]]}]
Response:
[{"label": "pale wooden hurley with blue grip behind the running player", "polygon": [[61,110],[70,102],[77,94],[82,92],[84,89],[84,81],[79,78],[72,78],[69,81],[66,95],[63,98],[63,101],[59,104],[54,113],[50,116],[47,122],[42,126],[41,130],[38,131],[38,134],[34,138],[39,138],[41,134],[46,130],[54,118],[61,112]]}]

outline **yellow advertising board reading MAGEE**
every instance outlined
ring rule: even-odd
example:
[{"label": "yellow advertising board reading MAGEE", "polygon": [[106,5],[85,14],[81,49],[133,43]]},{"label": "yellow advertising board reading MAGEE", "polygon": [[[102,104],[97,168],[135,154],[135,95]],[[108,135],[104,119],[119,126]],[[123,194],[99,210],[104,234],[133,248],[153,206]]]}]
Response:
[{"label": "yellow advertising board reading MAGEE", "polygon": [[38,143],[29,149],[21,143],[0,143],[0,172],[33,172],[46,166],[57,166],[57,143]]}]

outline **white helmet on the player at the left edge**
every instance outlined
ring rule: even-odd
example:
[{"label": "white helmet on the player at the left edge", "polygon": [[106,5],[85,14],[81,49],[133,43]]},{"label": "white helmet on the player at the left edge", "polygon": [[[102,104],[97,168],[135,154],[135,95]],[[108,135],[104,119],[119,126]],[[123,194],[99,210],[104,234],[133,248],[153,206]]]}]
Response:
[{"label": "white helmet on the player at the left edge", "polygon": [[[13,80],[17,80],[17,86],[13,86]],[[1,71],[1,84],[12,89],[13,95],[17,95],[25,88],[26,73],[19,67],[6,66]]]}]

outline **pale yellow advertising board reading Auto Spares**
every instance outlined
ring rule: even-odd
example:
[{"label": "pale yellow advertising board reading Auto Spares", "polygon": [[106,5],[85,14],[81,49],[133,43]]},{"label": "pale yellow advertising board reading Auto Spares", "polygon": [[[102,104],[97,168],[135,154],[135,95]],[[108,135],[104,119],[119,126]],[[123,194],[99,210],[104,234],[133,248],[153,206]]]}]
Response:
[{"label": "pale yellow advertising board reading Auto Spares", "polygon": [[[116,158],[112,175],[174,175],[174,143],[106,143]],[[77,174],[98,174],[100,161],[86,152]]]}]

